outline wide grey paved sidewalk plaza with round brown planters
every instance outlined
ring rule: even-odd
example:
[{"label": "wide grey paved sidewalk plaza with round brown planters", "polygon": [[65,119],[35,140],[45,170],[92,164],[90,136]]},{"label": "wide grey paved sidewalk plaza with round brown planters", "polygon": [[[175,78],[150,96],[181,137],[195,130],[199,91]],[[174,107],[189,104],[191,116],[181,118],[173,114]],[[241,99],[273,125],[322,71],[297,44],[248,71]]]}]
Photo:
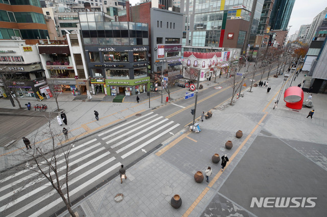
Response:
[{"label": "wide grey paved sidewalk plaza with round brown planters", "polygon": [[[326,96],[314,94],[314,120],[306,119],[310,108],[294,111],[283,98],[273,110],[283,79],[269,78],[269,94],[266,88],[253,88],[252,93],[246,89],[235,105],[213,110],[212,118],[200,123],[200,133],[181,131],[159,151],[127,168],[123,184],[117,176],[76,204],[75,210],[86,216],[324,215]],[[243,131],[241,139],[235,137],[237,130]],[[233,143],[231,150],[225,149],[227,140]],[[223,172],[211,161],[214,153],[229,157]],[[208,166],[213,169],[209,183],[195,182],[194,174]],[[118,194],[123,195],[121,202],[114,200]],[[170,205],[175,194],[182,199],[178,209]],[[269,196],[318,199],[314,208],[249,207],[252,197]]]}]

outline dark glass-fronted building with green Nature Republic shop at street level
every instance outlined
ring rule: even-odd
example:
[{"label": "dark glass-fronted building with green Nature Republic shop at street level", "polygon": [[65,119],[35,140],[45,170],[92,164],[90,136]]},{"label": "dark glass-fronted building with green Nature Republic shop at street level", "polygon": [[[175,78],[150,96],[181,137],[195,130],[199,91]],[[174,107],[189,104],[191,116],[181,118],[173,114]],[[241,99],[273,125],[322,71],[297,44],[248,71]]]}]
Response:
[{"label": "dark glass-fronted building with green Nature Republic shop at street level", "polygon": [[79,12],[93,94],[135,95],[149,91],[149,27],[108,22],[103,12]]}]

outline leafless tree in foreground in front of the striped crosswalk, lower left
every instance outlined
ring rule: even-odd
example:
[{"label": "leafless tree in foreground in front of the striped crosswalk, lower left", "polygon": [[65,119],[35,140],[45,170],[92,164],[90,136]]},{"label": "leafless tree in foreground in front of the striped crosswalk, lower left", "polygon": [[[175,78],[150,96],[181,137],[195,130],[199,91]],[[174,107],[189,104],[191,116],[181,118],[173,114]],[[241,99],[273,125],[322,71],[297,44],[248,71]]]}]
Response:
[{"label": "leafless tree in foreground in front of the striped crosswalk, lower left", "polygon": [[17,172],[17,170],[32,172],[32,175],[28,175],[26,176],[27,178],[23,178],[23,180],[20,181],[28,184],[24,184],[14,193],[16,196],[19,196],[19,193],[27,187],[40,180],[48,180],[51,184],[50,186],[52,186],[61,197],[68,212],[72,216],[76,216],[71,207],[68,184],[69,175],[71,174],[71,171],[69,171],[69,153],[74,145],[73,143],[63,145],[63,139],[61,139],[63,138],[63,134],[61,132],[56,132],[51,127],[50,116],[51,113],[49,113],[49,117],[45,117],[48,119],[48,125],[46,127],[48,130],[46,133],[42,133],[42,142],[36,142],[36,135],[40,134],[40,132],[37,132],[31,141],[32,150],[20,148],[21,152],[14,155],[17,160],[27,163],[21,164],[19,167],[14,167],[12,170],[15,172]]}]

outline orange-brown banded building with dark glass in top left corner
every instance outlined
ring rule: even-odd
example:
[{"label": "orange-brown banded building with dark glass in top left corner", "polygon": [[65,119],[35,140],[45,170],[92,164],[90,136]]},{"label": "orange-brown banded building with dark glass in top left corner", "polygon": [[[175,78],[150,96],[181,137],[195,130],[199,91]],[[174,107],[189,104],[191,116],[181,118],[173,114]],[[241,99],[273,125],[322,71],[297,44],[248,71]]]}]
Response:
[{"label": "orange-brown banded building with dark glass in top left corner", "polygon": [[26,44],[36,44],[49,37],[39,1],[0,1],[0,12],[0,39],[24,39]]}]

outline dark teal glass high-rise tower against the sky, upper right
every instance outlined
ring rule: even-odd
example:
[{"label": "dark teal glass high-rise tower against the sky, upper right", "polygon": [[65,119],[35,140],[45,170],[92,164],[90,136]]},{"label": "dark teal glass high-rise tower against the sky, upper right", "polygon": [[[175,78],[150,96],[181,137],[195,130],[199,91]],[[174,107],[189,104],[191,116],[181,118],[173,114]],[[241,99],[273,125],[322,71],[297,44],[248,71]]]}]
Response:
[{"label": "dark teal glass high-rise tower against the sky, upper right", "polygon": [[295,0],[275,0],[271,16],[270,29],[287,31]]}]

